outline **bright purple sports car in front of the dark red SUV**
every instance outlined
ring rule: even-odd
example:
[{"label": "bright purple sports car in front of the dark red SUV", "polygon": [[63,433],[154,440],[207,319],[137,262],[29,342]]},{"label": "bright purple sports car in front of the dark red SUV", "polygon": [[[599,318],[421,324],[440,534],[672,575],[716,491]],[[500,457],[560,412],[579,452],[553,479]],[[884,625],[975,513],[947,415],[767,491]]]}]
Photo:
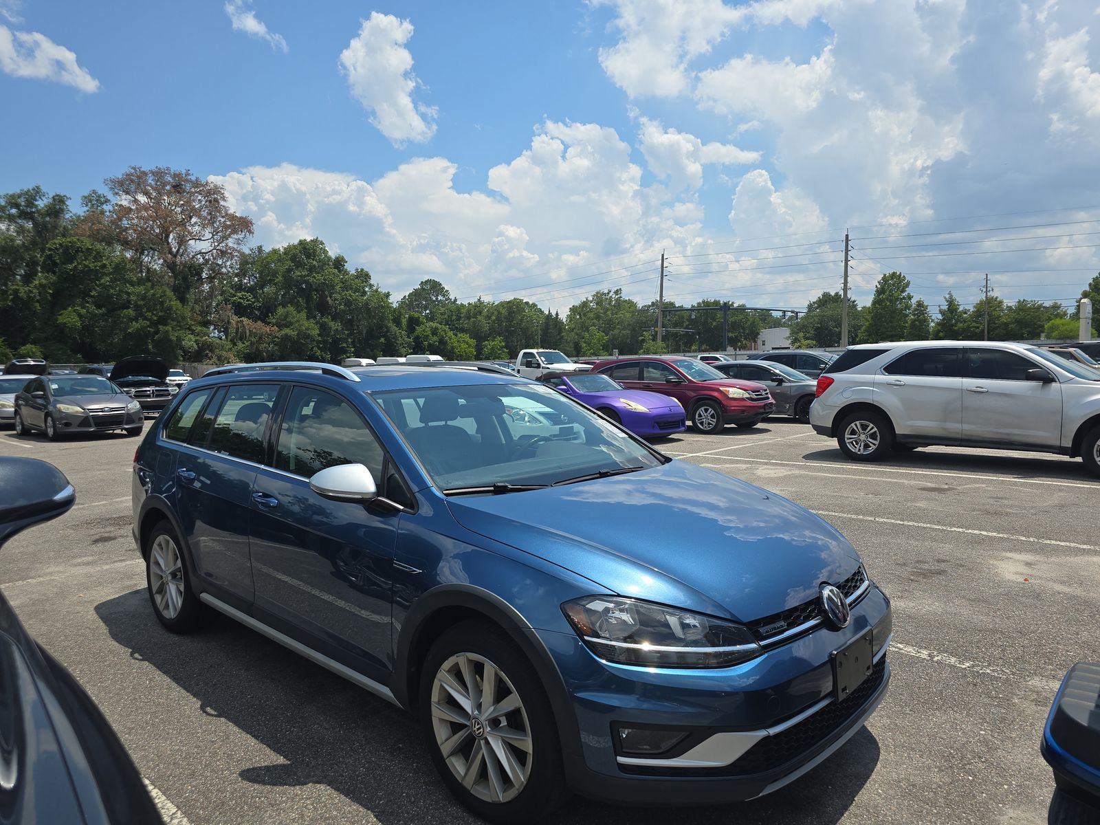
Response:
[{"label": "bright purple sports car in front of the dark red SUV", "polygon": [[626,389],[600,373],[547,373],[539,381],[603,413],[635,436],[654,438],[684,431],[684,408],[667,395]]}]

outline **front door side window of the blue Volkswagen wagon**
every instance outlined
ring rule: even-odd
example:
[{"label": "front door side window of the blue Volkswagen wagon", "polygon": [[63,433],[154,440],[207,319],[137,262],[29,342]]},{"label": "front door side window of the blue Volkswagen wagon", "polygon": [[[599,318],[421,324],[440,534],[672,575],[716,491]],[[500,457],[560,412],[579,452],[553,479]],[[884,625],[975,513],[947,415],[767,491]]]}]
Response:
[{"label": "front door side window of the blue Volkswagen wagon", "polygon": [[279,427],[275,466],[309,479],[340,464],[363,464],[382,490],[384,453],[348,402],[314,387],[295,387]]}]

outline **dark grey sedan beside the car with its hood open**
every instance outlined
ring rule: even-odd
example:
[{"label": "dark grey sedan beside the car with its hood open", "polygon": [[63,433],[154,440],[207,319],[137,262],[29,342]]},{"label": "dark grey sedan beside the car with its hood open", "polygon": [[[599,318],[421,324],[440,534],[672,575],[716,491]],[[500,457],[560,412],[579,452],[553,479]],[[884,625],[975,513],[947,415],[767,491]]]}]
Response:
[{"label": "dark grey sedan beside the car with its hood open", "polygon": [[141,405],[99,375],[42,375],[15,395],[15,435],[40,430],[55,441],[76,432],[140,436]]}]

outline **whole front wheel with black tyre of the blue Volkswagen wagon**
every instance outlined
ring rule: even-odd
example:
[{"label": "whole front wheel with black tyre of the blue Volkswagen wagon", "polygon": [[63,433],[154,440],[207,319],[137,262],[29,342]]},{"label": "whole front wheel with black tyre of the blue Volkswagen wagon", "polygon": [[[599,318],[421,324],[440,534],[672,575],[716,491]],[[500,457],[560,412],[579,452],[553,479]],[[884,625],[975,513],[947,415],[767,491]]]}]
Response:
[{"label": "whole front wheel with black tyre of the blue Volkswagen wagon", "polygon": [[[486,701],[490,682],[495,695]],[[474,701],[479,711],[492,714],[506,702],[510,710],[488,718],[465,712],[455,694],[469,697],[474,690],[483,696]],[[537,822],[569,799],[546,690],[527,657],[496,625],[463,622],[435,641],[421,668],[418,704],[436,769],[477,816],[493,823]],[[508,730],[507,737],[493,733],[501,729]]]}]

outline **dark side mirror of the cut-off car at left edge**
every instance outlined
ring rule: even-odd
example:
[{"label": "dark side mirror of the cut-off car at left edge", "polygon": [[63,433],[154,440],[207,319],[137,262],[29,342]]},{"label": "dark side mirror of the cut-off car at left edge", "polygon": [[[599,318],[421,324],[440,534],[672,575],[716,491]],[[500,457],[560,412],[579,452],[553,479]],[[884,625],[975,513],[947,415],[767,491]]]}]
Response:
[{"label": "dark side mirror of the cut-off car at left edge", "polygon": [[16,532],[67,513],[76,491],[45,461],[0,458],[0,544]]}]

